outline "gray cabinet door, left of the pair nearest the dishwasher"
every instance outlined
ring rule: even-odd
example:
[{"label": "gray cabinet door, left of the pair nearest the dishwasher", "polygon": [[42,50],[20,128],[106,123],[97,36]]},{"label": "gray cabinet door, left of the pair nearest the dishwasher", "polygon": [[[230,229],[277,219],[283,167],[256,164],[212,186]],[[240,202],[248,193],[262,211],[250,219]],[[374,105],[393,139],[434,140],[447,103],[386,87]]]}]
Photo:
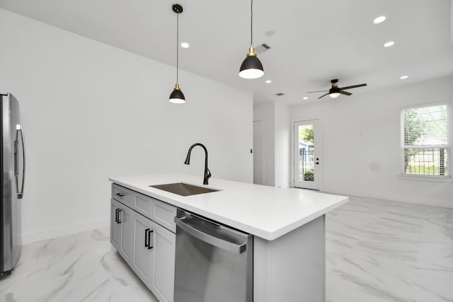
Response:
[{"label": "gray cabinet door, left of the pair nearest the dishwasher", "polygon": [[134,213],[134,257],[132,269],[144,284],[152,284],[154,266],[154,230],[152,222]]}]

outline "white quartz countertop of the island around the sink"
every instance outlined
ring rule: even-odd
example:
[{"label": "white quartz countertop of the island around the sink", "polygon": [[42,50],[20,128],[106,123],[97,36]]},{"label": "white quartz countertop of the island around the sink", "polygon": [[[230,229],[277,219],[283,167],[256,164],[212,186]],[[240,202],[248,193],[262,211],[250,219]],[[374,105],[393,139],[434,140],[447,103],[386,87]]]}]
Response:
[{"label": "white quartz countertop of the island around the sink", "polygon": [[[109,180],[266,240],[285,235],[348,202],[348,197],[314,190],[268,187],[216,178],[210,178],[210,185],[202,185],[202,175],[156,174]],[[219,191],[184,197],[149,187],[174,182]]]}]

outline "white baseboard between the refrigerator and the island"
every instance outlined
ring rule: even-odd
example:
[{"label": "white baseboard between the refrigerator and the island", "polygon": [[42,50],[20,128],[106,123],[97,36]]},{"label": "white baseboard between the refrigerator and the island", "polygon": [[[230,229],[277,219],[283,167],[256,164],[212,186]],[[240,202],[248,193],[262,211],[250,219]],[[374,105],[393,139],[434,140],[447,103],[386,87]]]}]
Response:
[{"label": "white baseboard between the refrigerator and the island", "polygon": [[110,225],[109,219],[101,219],[96,221],[86,221],[82,223],[72,224],[70,226],[62,226],[59,228],[47,228],[46,230],[22,234],[22,244],[34,243],[41,240],[57,238],[85,231],[91,231],[95,228],[105,228]]}]

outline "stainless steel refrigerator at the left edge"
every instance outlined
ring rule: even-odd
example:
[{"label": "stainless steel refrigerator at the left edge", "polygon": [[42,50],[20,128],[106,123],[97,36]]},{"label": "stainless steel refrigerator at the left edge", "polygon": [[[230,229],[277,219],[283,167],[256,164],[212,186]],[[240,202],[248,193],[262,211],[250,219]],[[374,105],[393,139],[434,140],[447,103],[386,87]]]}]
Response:
[{"label": "stainless steel refrigerator at the left edge", "polygon": [[21,199],[25,150],[19,103],[11,93],[0,93],[0,277],[11,274],[21,255]]}]

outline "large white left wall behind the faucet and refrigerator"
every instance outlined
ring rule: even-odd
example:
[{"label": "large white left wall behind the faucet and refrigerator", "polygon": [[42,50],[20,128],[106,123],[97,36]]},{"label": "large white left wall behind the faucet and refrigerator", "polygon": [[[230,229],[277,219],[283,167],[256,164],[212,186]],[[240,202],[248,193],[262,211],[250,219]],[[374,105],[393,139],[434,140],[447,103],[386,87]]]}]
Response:
[{"label": "large white left wall behind the faucet and refrigerator", "polygon": [[108,177],[201,182],[202,149],[183,164],[197,141],[213,178],[253,180],[251,93],[180,71],[188,102],[168,103],[173,66],[1,9],[0,38],[0,90],[18,98],[26,139],[25,243],[106,226]]}]

